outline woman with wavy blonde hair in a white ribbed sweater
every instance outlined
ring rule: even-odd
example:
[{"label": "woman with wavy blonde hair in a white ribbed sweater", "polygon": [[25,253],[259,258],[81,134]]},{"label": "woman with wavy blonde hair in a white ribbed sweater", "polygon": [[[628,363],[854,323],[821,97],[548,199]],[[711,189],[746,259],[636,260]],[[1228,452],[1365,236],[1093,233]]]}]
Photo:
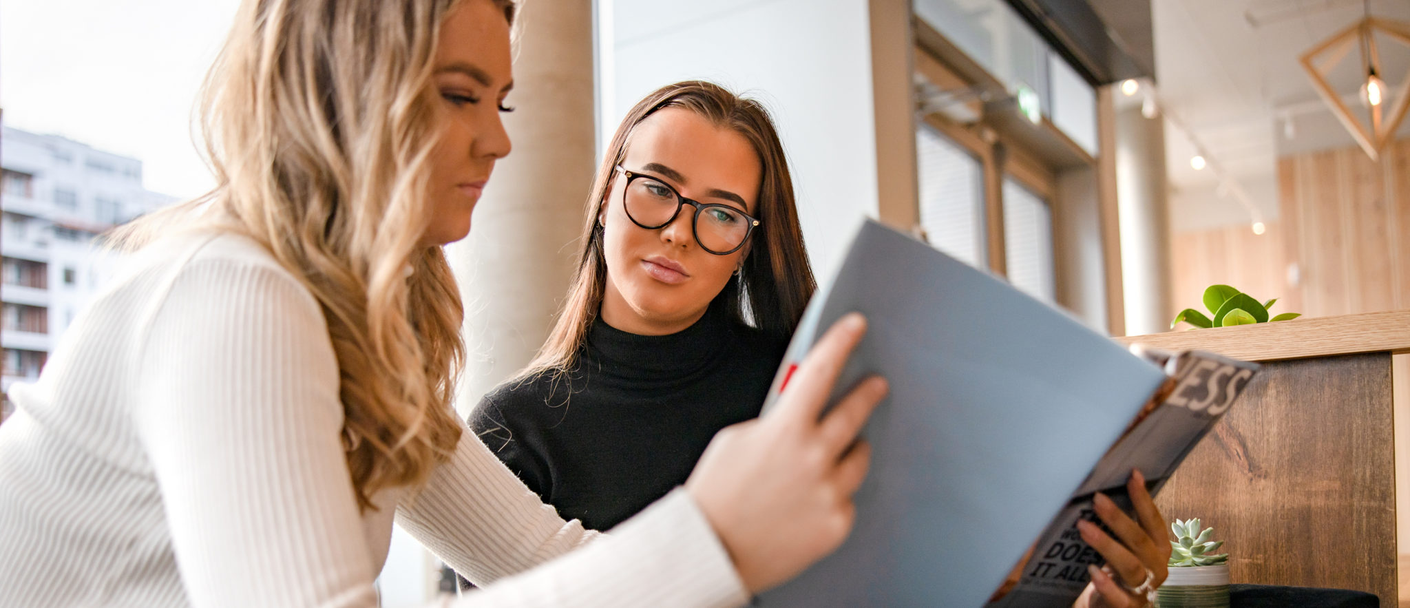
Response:
[{"label": "woman with wavy blonde hair in a white ribbed sweater", "polygon": [[508,0],[247,0],[207,80],[217,188],[121,236],[131,267],[0,426],[0,605],[374,607],[393,518],[461,605],[740,605],[836,549],[885,391],[821,416],[839,323],[778,415],[599,537],[450,408],[470,230],[510,89]]}]

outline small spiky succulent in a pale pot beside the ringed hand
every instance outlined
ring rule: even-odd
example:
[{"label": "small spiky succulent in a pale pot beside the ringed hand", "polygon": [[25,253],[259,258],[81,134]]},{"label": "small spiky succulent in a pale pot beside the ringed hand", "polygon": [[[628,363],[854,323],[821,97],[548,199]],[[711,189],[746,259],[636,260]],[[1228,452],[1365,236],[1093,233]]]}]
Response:
[{"label": "small spiky succulent in a pale pot beside the ringed hand", "polygon": [[1228,553],[1214,553],[1224,545],[1211,540],[1214,528],[1200,529],[1200,519],[1170,525],[1170,576],[1156,591],[1159,608],[1228,608]]}]

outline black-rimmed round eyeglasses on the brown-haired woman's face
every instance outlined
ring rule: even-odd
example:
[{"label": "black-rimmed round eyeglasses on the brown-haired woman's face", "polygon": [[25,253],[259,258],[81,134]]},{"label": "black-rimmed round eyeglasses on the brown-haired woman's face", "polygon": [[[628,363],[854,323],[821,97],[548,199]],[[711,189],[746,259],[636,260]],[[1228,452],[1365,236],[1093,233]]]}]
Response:
[{"label": "black-rimmed round eyeglasses on the brown-haired woman's face", "polygon": [[744,247],[744,240],[759,226],[759,220],[737,207],[721,203],[701,203],[675,192],[668,183],[646,174],[616,166],[626,176],[623,207],[633,224],[647,230],[661,229],[681,213],[682,205],[695,207],[691,230],[695,243],[715,255],[729,255]]}]

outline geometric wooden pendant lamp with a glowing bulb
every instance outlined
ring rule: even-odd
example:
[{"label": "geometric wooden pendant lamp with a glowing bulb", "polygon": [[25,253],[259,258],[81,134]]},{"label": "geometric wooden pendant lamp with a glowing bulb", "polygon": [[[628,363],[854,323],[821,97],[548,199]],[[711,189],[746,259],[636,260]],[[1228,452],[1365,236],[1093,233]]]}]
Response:
[{"label": "geometric wooden pendant lamp with a glowing bulb", "polygon": [[[1410,52],[1410,24],[1368,14],[1359,23],[1318,42],[1300,58],[1303,69],[1307,71],[1307,76],[1313,80],[1313,87],[1321,95],[1323,102],[1331,106],[1331,113],[1337,116],[1337,120],[1341,120],[1361,150],[1365,150],[1372,159],[1379,158],[1380,150],[1394,138],[1396,127],[1400,126],[1406,110],[1410,109],[1410,71],[1400,79],[1400,87],[1394,97],[1387,96],[1390,92],[1382,78],[1385,72],[1380,71],[1380,49],[1376,48],[1373,35],[1376,31],[1389,37],[1392,42],[1399,42],[1392,44],[1392,47],[1403,45],[1397,51]],[[1327,83],[1327,75],[1331,73],[1331,69],[1345,59],[1354,48],[1361,54],[1361,99],[1371,110],[1369,120],[1358,118],[1342,102],[1341,95],[1337,95]]]}]

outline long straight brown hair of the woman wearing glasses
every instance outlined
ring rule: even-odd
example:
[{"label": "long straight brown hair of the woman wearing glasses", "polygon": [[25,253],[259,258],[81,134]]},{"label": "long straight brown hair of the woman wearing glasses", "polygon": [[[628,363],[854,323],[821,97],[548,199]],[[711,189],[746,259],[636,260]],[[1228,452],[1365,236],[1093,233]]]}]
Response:
[{"label": "long straight brown hair of the woman wearing glasses", "polygon": [[585,203],[582,250],[568,299],[558,315],[548,340],[519,378],[539,372],[564,372],[577,361],[588,327],[602,308],[606,285],[606,258],[602,254],[602,230],[596,223],[608,193],[613,168],[626,157],[632,131],[646,117],[666,107],[680,107],[709,120],[719,128],[739,133],[753,145],[763,168],[759,185],[760,230],[739,274],[715,296],[711,306],[722,305],[736,322],[750,324],[780,340],[792,336],[808,299],[818,284],[808,265],[808,251],[794,206],[792,178],[784,158],[783,142],[768,111],[752,99],[699,80],[667,85],[627,111],[602,155],[596,179]]}]

